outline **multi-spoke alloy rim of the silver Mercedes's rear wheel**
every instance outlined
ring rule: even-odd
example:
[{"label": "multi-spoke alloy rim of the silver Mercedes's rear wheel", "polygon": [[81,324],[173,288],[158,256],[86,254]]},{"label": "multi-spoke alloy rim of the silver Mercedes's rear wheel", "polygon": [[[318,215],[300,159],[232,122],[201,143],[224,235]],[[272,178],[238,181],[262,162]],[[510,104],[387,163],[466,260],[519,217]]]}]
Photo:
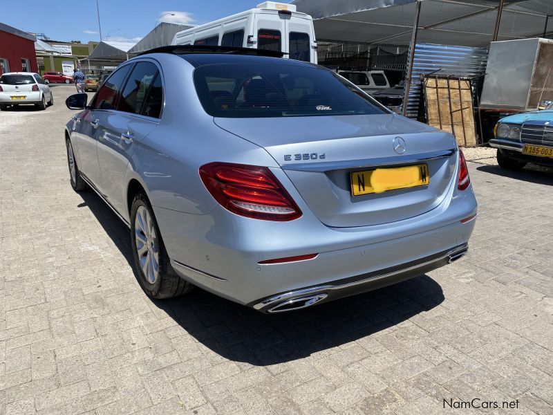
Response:
[{"label": "multi-spoke alloy rim of the silver Mercedes's rear wheel", "polygon": [[147,208],[140,206],[136,211],[135,221],[136,252],[142,273],[149,284],[154,284],[159,277],[159,243],[156,227]]}]

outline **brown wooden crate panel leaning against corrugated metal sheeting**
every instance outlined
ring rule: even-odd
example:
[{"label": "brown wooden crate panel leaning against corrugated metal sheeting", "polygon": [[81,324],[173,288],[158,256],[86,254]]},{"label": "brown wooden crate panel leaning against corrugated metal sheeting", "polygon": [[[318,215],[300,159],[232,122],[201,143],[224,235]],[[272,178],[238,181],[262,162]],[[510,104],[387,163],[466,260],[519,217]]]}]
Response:
[{"label": "brown wooden crate panel leaning against corrugated metal sheeting", "polygon": [[470,80],[431,76],[422,85],[428,124],[453,133],[462,147],[476,147]]}]

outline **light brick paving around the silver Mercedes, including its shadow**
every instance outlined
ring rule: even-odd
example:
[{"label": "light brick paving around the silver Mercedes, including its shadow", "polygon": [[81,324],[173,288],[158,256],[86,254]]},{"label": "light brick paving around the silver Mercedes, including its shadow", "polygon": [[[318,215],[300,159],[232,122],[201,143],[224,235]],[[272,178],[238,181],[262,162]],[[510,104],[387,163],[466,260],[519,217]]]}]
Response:
[{"label": "light brick paving around the silver Mercedes, including its shadow", "polygon": [[[73,91],[0,112],[0,415],[553,414],[553,173],[470,163],[469,255],[397,286],[278,316],[152,302],[68,183]],[[474,398],[518,409],[444,409]]]}]

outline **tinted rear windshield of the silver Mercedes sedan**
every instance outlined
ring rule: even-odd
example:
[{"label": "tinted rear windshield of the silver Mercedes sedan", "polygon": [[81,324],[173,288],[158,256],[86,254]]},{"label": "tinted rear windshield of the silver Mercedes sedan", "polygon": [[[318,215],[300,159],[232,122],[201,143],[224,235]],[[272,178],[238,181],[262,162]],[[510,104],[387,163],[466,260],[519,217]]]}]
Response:
[{"label": "tinted rear windshield of the silver Mercedes sedan", "polygon": [[288,64],[212,64],[194,71],[207,113],[223,118],[386,113],[332,71]]}]

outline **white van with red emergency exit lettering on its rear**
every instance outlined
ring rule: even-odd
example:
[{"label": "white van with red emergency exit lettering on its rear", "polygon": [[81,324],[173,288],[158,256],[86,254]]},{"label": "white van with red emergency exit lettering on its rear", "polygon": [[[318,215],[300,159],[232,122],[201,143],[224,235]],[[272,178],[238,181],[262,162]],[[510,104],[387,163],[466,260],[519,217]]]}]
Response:
[{"label": "white van with red emergency exit lettering on its rear", "polygon": [[171,44],[279,50],[288,53],[284,57],[317,63],[312,17],[297,12],[293,4],[274,1],[265,1],[237,15],[182,30]]}]

